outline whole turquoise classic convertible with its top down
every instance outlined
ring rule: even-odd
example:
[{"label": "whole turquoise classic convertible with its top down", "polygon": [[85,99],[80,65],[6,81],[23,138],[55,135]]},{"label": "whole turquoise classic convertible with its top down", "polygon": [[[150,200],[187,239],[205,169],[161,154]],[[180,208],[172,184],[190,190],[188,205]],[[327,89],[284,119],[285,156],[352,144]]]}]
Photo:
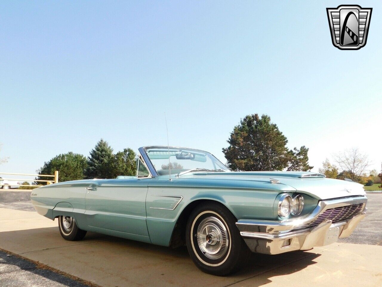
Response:
[{"label": "whole turquoise classic convertible with its top down", "polygon": [[208,152],[139,148],[136,176],[35,189],[39,214],[66,240],[87,231],[186,245],[199,269],[237,271],[251,251],[308,250],[349,236],[365,216],[361,184],[312,172],[232,172]]}]

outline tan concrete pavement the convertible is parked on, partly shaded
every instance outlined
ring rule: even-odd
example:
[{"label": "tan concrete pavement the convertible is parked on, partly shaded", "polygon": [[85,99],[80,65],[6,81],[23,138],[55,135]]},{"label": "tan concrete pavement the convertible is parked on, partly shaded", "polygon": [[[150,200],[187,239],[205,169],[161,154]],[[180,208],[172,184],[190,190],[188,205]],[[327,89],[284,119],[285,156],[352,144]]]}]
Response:
[{"label": "tan concrete pavement the convertible is parked on, partly shaded", "polygon": [[335,243],[305,252],[253,254],[238,274],[217,277],[199,271],[186,248],[170,249],[97,233],[88,233],[83,241],[66,241],[58,232],[57,220],[36,212],[0,209],[0,248],[104,287],[294,287],[296,283],[332,287],[333,282],[382,286],[382,246],[374,245]]}]

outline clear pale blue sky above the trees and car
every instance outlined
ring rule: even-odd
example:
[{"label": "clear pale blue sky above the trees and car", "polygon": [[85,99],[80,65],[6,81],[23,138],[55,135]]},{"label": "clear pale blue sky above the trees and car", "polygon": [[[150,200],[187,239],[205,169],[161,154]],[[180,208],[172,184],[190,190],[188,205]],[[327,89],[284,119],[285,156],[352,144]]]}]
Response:
[{"label": "clear pale blue sky above the trees and car", "polygon": [[247,114],[269,114],[317,170],[359,147],[380,170],[382,3],[367,45],[333,47],[326,7],[345,2],[0,4],[0,172],[34,173],[102,137],[115,151],[222,147]]}]

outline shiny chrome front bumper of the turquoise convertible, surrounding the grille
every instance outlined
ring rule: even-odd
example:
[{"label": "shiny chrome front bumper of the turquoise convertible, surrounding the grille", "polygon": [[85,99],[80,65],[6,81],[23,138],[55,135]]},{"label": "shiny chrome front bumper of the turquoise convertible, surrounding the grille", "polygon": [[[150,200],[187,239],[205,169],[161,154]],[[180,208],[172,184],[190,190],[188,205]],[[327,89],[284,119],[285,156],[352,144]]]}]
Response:
[{"label": "shiny chrome front bumper of the turquoise convertible, surrounding the grille", "polygon": [[[366,202],[366,196],[325,200],[320,201],[311,214],[299,219],[276,222],[239,220],[236,225],[252,252],[279,254],[295,250],[308,250],[314,246],[328,245],[337,242],[338,238],[349,236],[366,216],[364,212]],[[353,204],[363,204],[363,208],[352,218],[336,223],[332,223],[332,220],[325,220],[315,227],[309,227],[309,223],[314,222],[325,210]]]}]

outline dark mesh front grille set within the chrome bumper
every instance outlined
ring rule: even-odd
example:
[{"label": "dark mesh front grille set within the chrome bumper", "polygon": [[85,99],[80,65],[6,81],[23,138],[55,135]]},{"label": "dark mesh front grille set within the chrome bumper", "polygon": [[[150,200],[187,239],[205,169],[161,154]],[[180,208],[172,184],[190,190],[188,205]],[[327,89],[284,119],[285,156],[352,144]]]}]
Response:
[{"label": "dark mesh front grille set within the chrome bumper", "polygon": [[307,226],[314,227],[328,219],[332,220],[332,223],[350,219],[354,215],[361,212],[361,210],[363,209],[363,206],[364,206],[364,203],[360,203],[360,204],[346,205],[346,206],[340,206],[340,207],[327,209],[324,212],[322,212],[322,214],[320,214],[320,216],[317,217],[316,220],[309,223]]}]

